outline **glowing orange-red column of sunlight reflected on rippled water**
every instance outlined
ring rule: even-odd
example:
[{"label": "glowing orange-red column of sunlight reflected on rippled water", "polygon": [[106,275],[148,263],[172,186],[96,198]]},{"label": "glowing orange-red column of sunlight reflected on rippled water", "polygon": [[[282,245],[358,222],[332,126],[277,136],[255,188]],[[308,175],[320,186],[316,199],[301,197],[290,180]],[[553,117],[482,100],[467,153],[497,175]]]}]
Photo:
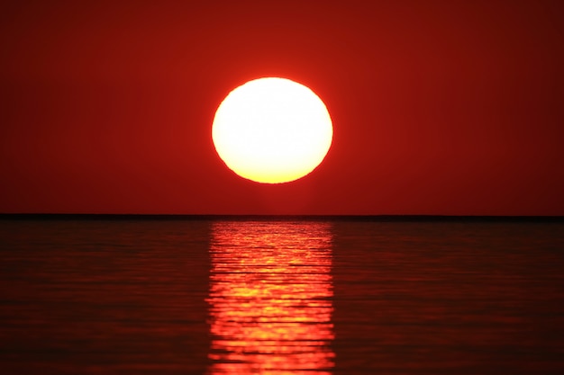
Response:
[{"label": "glowing orange-red column of sunlight reflected on rippled water", "polygon": [[331,244],[328,223],[214,223],[210,374],[331,373]]}]

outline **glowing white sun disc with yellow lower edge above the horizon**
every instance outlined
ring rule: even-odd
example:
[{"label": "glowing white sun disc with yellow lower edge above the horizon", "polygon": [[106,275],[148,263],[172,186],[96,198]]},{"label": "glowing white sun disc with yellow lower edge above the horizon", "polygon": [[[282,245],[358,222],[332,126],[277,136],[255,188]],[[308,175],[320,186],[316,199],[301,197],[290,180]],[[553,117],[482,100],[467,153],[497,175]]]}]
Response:
[{"label": "glowing white sun disc with yellow lower edge above the horizon", "polygon": [[332,144],[327,107],[305,85],[265,77],[228,94],[212,139],[234,173],[257,183],[289,183],[320,165]]}]

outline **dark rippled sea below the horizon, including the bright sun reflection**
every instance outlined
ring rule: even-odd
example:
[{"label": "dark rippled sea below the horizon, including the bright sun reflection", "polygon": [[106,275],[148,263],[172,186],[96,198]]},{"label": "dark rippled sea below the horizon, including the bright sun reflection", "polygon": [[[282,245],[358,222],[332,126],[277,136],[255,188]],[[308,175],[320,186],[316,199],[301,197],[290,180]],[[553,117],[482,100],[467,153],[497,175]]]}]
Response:
[{"label": "dark rippled sea below the horizon, including the bright sun reflection", "polygon": [[563,374],[564,220],[3,217],[0,373]]}]

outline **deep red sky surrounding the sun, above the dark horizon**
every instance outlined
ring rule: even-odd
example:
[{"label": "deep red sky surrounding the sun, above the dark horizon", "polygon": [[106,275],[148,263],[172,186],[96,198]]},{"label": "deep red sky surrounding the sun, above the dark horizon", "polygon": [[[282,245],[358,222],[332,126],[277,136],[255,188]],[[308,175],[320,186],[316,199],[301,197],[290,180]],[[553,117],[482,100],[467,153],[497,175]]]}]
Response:
[{"label": "deep red sky surrounding the sun, above the dark horizon", "polygon": [[[5,1],[0,212],[564,215],[559,1]],[[295,183],[233,174],[260,76],[332,115]]]}]

